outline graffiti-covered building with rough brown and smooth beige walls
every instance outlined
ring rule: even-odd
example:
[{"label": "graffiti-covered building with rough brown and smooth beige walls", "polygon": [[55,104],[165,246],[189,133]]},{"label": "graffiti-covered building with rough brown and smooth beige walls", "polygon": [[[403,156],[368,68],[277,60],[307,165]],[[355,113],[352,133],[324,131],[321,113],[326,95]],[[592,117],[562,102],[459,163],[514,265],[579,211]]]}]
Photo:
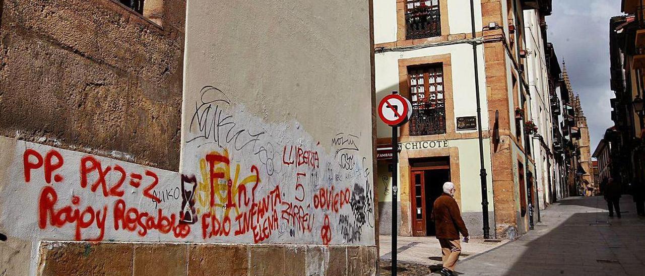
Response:
[{"label": "graffiti-covered building with rough brown and smooth beige walls", "polygon": [[375,275],[370,1],[0,5],[3,274]]}]

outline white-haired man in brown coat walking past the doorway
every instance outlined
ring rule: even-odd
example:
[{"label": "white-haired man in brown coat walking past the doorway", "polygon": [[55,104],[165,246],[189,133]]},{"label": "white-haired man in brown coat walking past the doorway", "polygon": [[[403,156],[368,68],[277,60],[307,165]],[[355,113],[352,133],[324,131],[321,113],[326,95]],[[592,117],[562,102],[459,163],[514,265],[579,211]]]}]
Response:
[{"label": "white-haired man in brown coat walking past the doorway", "polygon": [[464,235],[464,241],[468,242],[468,230],[461,218],[455,196],[455,184],[446,182],[443,186],[444,193],[437,198],[432,208],[432,219],[435,221],[437,239],[441,244],[443,269],[441,275],[453,275],[455,265],[461,253],[459,243],[459,232]]}]

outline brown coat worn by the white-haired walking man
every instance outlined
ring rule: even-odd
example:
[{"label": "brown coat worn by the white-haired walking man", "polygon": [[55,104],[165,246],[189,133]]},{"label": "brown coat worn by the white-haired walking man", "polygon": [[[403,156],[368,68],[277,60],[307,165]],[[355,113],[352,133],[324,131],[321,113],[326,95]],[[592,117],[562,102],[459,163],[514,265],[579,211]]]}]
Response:
[{"label": "brown coat worn by the white-haired walking man", "polygon": [[[468,237],[468,229],[464,220],[461,219],[461,212],[459,212],[459,205],[447,193],[442,194],[432,208],[432,219],[435,221],[435,229],[437,230],[437,239],[450,239],[458,240],[459,232],[464,237]],[[459,230],[459,232],[457,232]]]}]

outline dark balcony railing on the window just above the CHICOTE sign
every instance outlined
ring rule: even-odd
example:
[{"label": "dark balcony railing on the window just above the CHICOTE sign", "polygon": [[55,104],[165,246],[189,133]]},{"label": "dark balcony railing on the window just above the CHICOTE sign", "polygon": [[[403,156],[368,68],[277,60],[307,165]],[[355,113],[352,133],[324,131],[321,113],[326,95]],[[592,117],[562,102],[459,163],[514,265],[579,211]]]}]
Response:
[{"label": "dark balcony railing on the window just above the CHICOTE sign", "polygon": [[421,108],[413,106],[410,118],[410,135],[434,135],[446,133],[446,108]]}]

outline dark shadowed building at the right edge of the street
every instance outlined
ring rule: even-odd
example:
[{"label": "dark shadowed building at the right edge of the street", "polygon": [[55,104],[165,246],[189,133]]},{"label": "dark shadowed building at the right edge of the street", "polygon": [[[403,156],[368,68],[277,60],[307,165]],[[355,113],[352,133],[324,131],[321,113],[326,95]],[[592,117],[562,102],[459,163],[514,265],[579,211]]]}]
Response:
[{"label": "dark shadowed building at the right edge of the street", "polygon": [[637,212],[645,215],[645,6],[640,0],[622,1],[625,15],[610,19],[611,120],[613,178],[631,193]]}]

